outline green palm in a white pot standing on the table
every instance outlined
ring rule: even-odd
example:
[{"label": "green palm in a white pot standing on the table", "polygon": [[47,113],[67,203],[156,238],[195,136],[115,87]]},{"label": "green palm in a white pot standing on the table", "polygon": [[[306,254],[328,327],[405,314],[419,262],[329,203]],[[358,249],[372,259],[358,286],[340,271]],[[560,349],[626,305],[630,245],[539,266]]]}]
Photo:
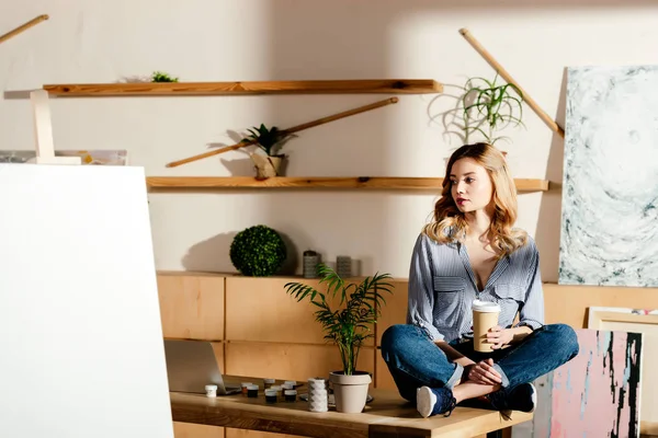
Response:
[{"label": "green palm in a white pot standing on the table", "polygon": [[[367,389],[372,381],[368,372],[356,369],[359,351],[363,343],[373,336],[370,325],[377,322],[381,308],[386,302],[383,292],[390,293],[392,278],[388,274],[375,274],[360,284],[345,281],[329,266],[318,265],[320,284],[327,285],[322,293],[309,285],[287,283],[286,292],[302,301],[308,299],[318,308],[316,321],[322,325],[325,339],[338,346],[342,360],[342,370],[332,371],[329,381],[333,385],[336,410],[345,413],[363,411],[367,399]],[[332,309],[329,301],[339,307]]]}]

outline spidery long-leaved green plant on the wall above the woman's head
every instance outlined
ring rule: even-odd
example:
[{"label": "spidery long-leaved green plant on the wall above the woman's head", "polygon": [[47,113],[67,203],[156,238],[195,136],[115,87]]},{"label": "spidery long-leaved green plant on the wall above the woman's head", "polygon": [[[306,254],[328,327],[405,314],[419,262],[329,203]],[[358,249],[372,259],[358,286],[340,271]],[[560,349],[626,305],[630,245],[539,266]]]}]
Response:
[{"label": "spidery long-leaved green plant on the wall above the woman's head", "polygon": [[508,126],[523,126],[523,93],[512,83],[498,84],[497,81],[498,74],[492,81],[479,77],[466,81],[462,100],[467,142],[470,134],[479,132],[489,145],[494,145],[507,139],[504,136],[496,137],[497,131]]}]

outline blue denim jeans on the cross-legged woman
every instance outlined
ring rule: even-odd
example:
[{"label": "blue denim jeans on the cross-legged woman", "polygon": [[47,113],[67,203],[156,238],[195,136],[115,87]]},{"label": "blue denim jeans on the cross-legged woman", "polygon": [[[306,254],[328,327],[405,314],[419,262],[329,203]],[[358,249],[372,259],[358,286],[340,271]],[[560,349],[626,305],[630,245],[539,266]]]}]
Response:
[{"label": "blue denim jeans on the cross-legged woman", "polygon": [[[566,324],[544,325],[520,343],[491,353],[475,351],[473,341],[450,345],[475,362],[492,358],[506,390],[553,371],[572,359],[579,349],[576,332]],[[388,327],[382,336],[382,357],[400,395],[410,402],[416,402],[417,388],[453,388],[464,371],[416,325]]]}]

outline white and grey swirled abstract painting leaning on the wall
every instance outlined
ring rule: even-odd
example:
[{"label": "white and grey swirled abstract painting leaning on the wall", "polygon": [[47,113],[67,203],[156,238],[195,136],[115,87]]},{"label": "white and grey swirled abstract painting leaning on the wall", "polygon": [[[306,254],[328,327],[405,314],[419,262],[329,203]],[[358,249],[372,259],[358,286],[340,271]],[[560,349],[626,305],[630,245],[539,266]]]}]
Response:
[{"label": "white and grey swirled abstract painting leaning on the wall", "polygon": [[658,286],[658,66],[569,68],[559,278]]}]

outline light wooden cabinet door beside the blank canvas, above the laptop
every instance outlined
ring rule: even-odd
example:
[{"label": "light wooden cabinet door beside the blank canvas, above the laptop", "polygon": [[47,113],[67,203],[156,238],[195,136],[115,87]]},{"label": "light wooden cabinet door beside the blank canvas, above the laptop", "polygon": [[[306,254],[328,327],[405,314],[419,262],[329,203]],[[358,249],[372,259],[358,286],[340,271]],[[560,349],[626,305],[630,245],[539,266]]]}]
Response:
[{"label": "light wooden cabinet door beside the blank canvas, above the laptop", "polygon": [[164,337],[224,339],[224,277],[158,274],[157,279]]}]

